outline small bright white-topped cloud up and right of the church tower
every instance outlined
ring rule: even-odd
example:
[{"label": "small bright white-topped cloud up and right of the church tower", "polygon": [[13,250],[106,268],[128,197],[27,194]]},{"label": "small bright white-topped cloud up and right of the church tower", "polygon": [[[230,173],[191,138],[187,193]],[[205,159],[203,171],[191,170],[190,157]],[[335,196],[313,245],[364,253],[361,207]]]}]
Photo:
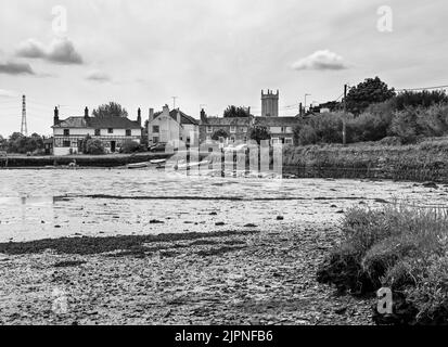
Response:
[{"label": "small bright white-topped cloud up and right of the church tower", "polygon": [[318,70],[336,70],[348,68],[345,65],[341,55],[333,53],[329,50],[317,51],[311,55],[303,57],[293,64],[293,68],[297,70],[302,69],[318,69]]}]

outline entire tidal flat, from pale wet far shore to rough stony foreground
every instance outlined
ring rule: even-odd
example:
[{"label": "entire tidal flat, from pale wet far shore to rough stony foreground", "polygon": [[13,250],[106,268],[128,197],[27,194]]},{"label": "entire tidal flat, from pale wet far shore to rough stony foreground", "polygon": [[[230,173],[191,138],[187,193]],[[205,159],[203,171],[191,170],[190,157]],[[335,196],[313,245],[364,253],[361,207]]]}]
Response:
[{"label": "entire tidal flat, from pale wet far shore to rough stony foreground", "polygon": [[316,281],[344,210],[443,205],[448,190],[144,170],[0,176],[1,324],[371,324],[372,299]]}]

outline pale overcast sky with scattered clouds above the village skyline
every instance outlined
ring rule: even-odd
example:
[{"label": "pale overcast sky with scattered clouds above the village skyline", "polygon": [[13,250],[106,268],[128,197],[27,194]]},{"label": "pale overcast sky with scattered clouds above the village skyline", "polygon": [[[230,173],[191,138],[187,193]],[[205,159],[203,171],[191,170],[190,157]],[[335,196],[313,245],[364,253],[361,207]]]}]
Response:
[{"label": "pale overcast sky with scattered clouds above the village skyline", "polygon": [[[0,134],[21,126],[51,133],[53,108],[82,115],[108,101],[137,108],[229,104],[260,112],[261,89],[280,90],[280,115],[338,98],[345,82],[448,85],[444,0],[0,0]],[[67,30],[55,31],[55,5]],[[393,10],[379,30],[380,7]],[[384,28],[384,21],[380,21]],[[55,22],[56,24],[59,22]],[[61,26],[57,26],[61,28]]]}]

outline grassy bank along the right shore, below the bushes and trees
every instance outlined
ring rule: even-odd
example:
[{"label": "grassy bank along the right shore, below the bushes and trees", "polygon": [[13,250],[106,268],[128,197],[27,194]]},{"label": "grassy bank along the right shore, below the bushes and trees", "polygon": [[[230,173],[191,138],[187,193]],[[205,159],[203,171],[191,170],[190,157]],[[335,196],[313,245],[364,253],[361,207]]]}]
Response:
[{"label": "grassy bank along the right shore, below the bushes and trees", "polygon": [[382,179],[448,182],[448,141],[412,145],[376,142],[310,145],[283,152],[283,174],[297,178]]}]

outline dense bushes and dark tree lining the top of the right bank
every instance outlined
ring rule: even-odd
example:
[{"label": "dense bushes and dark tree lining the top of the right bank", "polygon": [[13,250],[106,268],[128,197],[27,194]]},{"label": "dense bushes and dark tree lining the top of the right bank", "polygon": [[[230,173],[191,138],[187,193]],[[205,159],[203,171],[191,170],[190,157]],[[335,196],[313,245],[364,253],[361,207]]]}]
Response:
[{"label": "dense bushes and dark tree lining the top of the right bank", "polygon": [[[415,143],[421,138],[448,134],[448,95],[445,90],[395,93],[383,82],[367,80],[348,93],[333,112],[304,117],[294,129],[295,144],[342,143],[346,123],[347,143],[382,141]],[[366,90],[360,90],[360,89]],[[369,102],[373,99],[372,102]],[[380,102],[374,102],[382,100]]]}]

